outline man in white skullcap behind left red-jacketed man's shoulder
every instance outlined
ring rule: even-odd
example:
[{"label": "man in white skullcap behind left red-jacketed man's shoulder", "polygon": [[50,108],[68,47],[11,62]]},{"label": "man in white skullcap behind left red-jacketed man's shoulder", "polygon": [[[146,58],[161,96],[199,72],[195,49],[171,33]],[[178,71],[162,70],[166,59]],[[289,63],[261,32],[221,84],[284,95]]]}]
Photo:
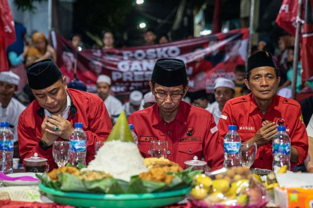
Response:
[{"label": "man in white skullcap behind left red-jacketed man's shoulder", "polygon": [[112,124],[115,124],[118,116],[123,110],[121,101],[110,95],[111,78],[106,75],[100,75],[97,79],[97,94],[104,101],[105,107],[108,110]]}]

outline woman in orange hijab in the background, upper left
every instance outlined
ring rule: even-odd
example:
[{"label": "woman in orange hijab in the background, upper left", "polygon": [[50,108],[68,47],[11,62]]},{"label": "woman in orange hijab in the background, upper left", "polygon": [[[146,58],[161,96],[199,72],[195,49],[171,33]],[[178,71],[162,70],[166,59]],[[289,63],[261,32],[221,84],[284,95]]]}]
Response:
[{"label": "woman in orange hijab in the background, upper left", "polygon": [[25,66],[28,67],[46,58],[52,58],[54,62],[56,62],[56,52],[54,48],[48,44],[43,33],[35,32],[32,36],[31,47],[28,48]]}]

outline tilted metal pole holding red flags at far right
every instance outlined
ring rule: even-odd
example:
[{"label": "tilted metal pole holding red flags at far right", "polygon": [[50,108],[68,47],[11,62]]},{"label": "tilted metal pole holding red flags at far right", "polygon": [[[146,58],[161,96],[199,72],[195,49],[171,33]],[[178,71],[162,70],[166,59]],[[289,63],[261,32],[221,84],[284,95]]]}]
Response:
[{"label": "tilted metal pole holding red flags at far right", "polygon": [[299,45],[300,45],[300,29],[301,29],[301,14],[302,14],[302,0],[298,1],[298,16],[297,16],[297,27],[295,31],[295,50],[293,60],[293,77],[291,84],[291,98],[295,99],[296,86],[297,86],[297,74],[298,74],[298,62],[299,62]]}]

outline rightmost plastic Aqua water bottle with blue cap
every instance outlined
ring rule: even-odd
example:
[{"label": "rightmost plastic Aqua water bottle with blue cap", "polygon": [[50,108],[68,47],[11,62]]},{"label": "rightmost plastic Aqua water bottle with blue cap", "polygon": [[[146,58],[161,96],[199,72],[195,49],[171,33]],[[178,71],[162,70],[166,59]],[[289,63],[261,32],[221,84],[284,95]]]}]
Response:
[{"label": "rightmost plastic Aqua water bottle with blue cap", "polygon": [[286,126],[277,126],[277,133],[273,141],[273,171],[287,165],[290,170],[290,138],[286,133]]}]

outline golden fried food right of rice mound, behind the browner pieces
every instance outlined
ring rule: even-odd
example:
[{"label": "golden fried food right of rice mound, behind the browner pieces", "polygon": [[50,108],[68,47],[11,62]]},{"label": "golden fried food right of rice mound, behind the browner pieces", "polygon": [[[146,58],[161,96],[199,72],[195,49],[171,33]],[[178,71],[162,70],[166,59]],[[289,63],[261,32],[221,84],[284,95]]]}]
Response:
[{"label": "golden fried food right of rice mound, behind the browner pieces", "polygon": [[172,162],[168,159],[165,159],[164,157],[156,158],[156,157],[150,157],[145,158],[144,163],[147,168],[163,168],[165,172],[172,172],[172,173],[178,173],[183,171],[182,167],[180,167],[177,163]]}]

